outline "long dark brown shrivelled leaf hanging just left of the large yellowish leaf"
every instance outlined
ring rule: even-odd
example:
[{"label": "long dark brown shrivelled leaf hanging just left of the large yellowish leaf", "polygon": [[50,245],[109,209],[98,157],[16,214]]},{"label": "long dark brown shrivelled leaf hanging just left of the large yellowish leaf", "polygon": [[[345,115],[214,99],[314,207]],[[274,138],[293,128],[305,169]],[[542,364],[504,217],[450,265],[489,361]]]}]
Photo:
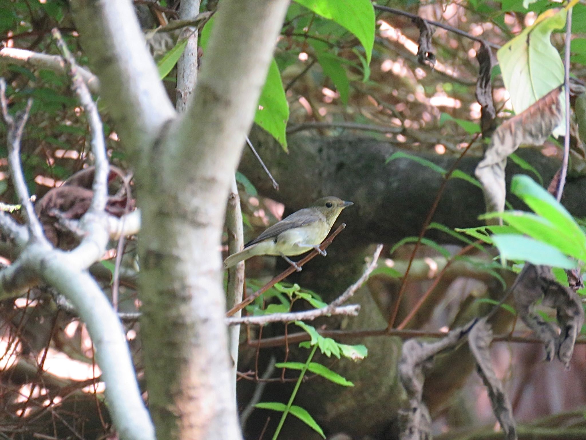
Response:
[{"label": "long dark brown shrivelled leaf hanging just left of the large yellowish leaf", "polygon": [[495,131],[495,104],[492,99],[492,82],[490,82],[490,72],[494,65],[492,52],[488,44],[481,43],[476,59],[480,65],[478,80],[476,80],[476,100],[481,105],[481,130],[482,137],[490,137]]}]

